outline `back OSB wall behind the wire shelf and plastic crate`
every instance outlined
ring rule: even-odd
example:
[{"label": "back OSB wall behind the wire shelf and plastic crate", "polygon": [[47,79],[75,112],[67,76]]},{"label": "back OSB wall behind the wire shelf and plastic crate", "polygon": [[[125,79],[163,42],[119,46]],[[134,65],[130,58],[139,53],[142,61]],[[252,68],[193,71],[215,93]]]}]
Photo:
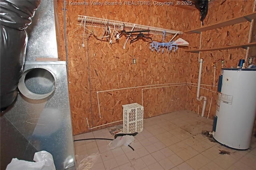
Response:
[{"label": "back OSB wall behind the wire shelf and plastic crate", "polygon": [[[166,50],[163,54],[156,53],[150,51],[149,41],[140,39],[132,44],[128,41],[126,48],[123,49],[126,41],[124,36],[120,37],[118,42],[113,39],[112,45],[106,39],[100,41],[90,36],[84,41],[85,47],[82,47],[82,39],[70,35],[70,32],[78,27],[76,25],[78,15],[184,31],[191,25],[190,22],[196,22],[192,16],[187,16],[187,11],[175,6],[156,6],[153,5],[153,1],[151,5],[122,6],[91,5],[90,1],[86,1],[89,3],[86,6],[70,5],[69,1],[67,2],[68,74],[74,135],[89,131],[86,118],[90,127],[96,127],[122,120],[122,105],[134,102],[142,104],[142,88],[131,87],[187,81],[188,63],[184,48],[179,48],[175,53],[174,51],[167,53]],[[197,17],[199,15],[198,12],[191,14]],[[58,16],[59,43],[62,48],[60,58],[65,60],[63,1],[58,1]],[[91,29],[95,36],[102,36],[103,29],[87,28]],[[76,34],[79,34],[79,31]],[[179,35],[175,39],[178,37],[186,40],[188,36]],[[165,37],[165,42],[170,41],[171,38],[171,36]],[[153,35],[152,39],[162,42],[163,37]],[[133,59],[136,59],[136,64],[132,64]],[[130,89],[111,91],[120,88]],[[101,92],[103,90],[109,91]],[[97,92],[101,117],[99,117]],[[146,90],[143,96],[145,117],[185,109],[184,96],[187,92],[188,88],[181,87]],[[109,126],[112,125],[114,124]]]}]

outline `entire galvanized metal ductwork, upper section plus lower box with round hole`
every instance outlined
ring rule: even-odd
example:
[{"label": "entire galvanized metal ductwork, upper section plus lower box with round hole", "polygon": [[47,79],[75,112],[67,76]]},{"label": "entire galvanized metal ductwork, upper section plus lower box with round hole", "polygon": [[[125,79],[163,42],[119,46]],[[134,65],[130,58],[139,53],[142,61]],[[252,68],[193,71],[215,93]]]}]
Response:
[{"label": "entire galvanized metal ductwork, upper section plus lower box with round hole", "polygon": [[27,29],[20,93],[0,119],[1,169],[12,158],[33,161],[36,151],[46,150],[57,170],[76,170],[66,62],[36,61],[58,58],[55,2],[42,0]]}]

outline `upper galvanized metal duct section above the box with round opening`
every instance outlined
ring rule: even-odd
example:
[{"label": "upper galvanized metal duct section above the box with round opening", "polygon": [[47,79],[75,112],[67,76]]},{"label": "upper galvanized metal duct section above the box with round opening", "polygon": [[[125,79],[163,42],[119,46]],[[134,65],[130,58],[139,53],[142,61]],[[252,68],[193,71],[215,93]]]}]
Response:
[{"label": "upper galvanized metal duct section above the box with round opening", "polygon": [[36,61],[36,58],[58,58],[54,2],[42,0],[36,10],[33,22],[27,29],[28,47],[26,61]]}]

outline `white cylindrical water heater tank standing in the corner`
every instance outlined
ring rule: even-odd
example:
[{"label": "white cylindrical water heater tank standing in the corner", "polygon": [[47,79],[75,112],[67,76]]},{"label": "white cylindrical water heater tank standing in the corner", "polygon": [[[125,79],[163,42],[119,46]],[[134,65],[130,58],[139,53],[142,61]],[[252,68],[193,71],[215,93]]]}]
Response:
[{"label": "white cylindrical water heater tank standing in the corner", "polygon": [[213,137],[226,147],[250,147],[256,115],[256,69],[222,68]]}]

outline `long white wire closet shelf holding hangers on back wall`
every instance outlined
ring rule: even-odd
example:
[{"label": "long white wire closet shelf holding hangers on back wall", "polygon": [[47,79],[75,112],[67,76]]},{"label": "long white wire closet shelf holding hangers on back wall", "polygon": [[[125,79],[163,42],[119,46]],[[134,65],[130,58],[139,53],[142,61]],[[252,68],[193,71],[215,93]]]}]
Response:
[{"label": "long white wire closet shelf holding hangers on back wall", "polygon": [[163,29],[158,27],[150,27],[146,25],[139,25],[136,23],[128,23],[122,21],[114,21],[107,20],[103,18],[95,18],[89,16],[78,15],[78,25],[80,26],[93,26],[93,27],[106,27],[108,25],[110,28],[116,28],[124,26],[127,31],[142,31],[142,30],[150,30],[149,33],[163,35],[165,31],[165,35],[174,35],[174,34],[183,34],[182,31],[175,31],[171,29]]}]

